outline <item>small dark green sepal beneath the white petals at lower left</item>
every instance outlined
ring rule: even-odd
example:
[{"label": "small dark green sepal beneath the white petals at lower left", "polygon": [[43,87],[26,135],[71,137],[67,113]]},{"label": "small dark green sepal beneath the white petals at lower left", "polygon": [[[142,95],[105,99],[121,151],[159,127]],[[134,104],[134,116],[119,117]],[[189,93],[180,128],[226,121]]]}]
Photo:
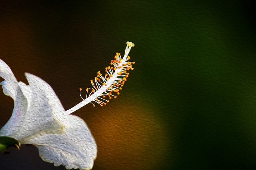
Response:
[{"label": "small dark green sepal beneath the white petals at lower left", "polygon": [[20,149],[20,143],[12,137],[0,136],[0,152],[4,152],[9,147]]}]

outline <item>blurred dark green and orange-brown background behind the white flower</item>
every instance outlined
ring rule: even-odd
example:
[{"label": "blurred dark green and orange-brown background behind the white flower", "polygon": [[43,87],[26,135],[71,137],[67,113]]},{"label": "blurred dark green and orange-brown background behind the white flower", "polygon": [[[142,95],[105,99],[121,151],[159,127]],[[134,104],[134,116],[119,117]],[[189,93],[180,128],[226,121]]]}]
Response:
[{"label": "blurred dark green and orange-brown background behind the white flower", "polygon": [[[1,1],[0,58],[19,81],[29,72],[48,82],[69,109],[132,41],[118,98],[73,113],[97,142],[93,170],[255,170],[254,11],[242,0]],[[3,126],[13,102],[0,101]],[[9,151],[1,169],[65,169],[34,146]]]}]

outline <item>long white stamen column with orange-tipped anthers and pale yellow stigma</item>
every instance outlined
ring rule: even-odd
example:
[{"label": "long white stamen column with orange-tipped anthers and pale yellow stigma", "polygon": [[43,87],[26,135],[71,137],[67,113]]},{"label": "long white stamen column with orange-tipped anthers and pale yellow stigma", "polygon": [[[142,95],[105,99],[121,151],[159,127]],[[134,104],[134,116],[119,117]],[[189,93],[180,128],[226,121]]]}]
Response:
[{"label": "long white stamen column with orange-tipped anthers and pale yellow stigma", "polygon": [[67,110],[66,114],[70,114],[88,103],[94,107],[94,103],[100,106],[106,105],[109,99],[116,98],[120,94],[120,90],[129,76],[127,71],[133,70],[132,64],[135,64],[135,62],[128,61],[130,60],[128,54],[130,49],[134,47],[134,43],[127,42],[126,44],[124,57],[122,58],[120,53],[116,53],[114,60],[110,63],[112,66],[105,68],[105,74],[101,74],[100,71],[97,72],[97,77],[94,78],[94,81],[91,80],[92,87],[86,88],[85,98],[82,97],[82,88],[80,88],[79,94],[83,101]]}]

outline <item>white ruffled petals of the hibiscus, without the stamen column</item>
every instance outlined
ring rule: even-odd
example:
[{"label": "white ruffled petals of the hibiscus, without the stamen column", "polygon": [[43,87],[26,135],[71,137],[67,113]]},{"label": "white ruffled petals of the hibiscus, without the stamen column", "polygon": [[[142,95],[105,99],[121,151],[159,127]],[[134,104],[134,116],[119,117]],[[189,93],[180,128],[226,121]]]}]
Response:
[{"label": "white ruffled petals of the hibiscus, without the stamen column", "polygon": [[60,100],[49,84],[26,73],[29,86],[17,82],[9,66],[0,60],[0,76],[4,94],[14,99],[12,116],[0,130],[23,144],[33,144],[41,158],[65,165],[67,169],[91,169],[97,146],[86,123],[74,115],[66,115]]}]

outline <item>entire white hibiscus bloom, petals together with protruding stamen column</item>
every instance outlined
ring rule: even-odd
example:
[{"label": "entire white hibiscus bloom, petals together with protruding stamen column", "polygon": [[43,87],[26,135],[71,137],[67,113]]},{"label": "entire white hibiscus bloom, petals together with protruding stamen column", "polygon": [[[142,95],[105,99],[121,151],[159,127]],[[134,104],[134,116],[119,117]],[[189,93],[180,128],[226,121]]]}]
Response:
[{"label": "entire white hibiscus bloom, petals together with protruding stamen column", "polygon": [[[112,94],[119,94],[132,69],[128,53],[134,44],[127,42],[125,55],[117,53],[107,67],[106,74],[98,72],[93,88],[88,88],[86,99],[65,111],[53,89],[41,78],[25,73],[29,85],[18,82],[10,67],[0,59],[0,76],[5,95],[14,100],[14,109],[9,121],[0,129],[0,137],[12,137],[21,144],[35,145],[40,157],[64,165],[66,169],[92,169],[97,155],[97,145],[86,123],[70,113],[88,103],[106,104]],[[81,89],[80,89],[81,92]],[[90,92],[90,93],[89,93]],[[95,106],[95,105],[94,105]],[[1,141],[0,141],[1,142]]]}]

